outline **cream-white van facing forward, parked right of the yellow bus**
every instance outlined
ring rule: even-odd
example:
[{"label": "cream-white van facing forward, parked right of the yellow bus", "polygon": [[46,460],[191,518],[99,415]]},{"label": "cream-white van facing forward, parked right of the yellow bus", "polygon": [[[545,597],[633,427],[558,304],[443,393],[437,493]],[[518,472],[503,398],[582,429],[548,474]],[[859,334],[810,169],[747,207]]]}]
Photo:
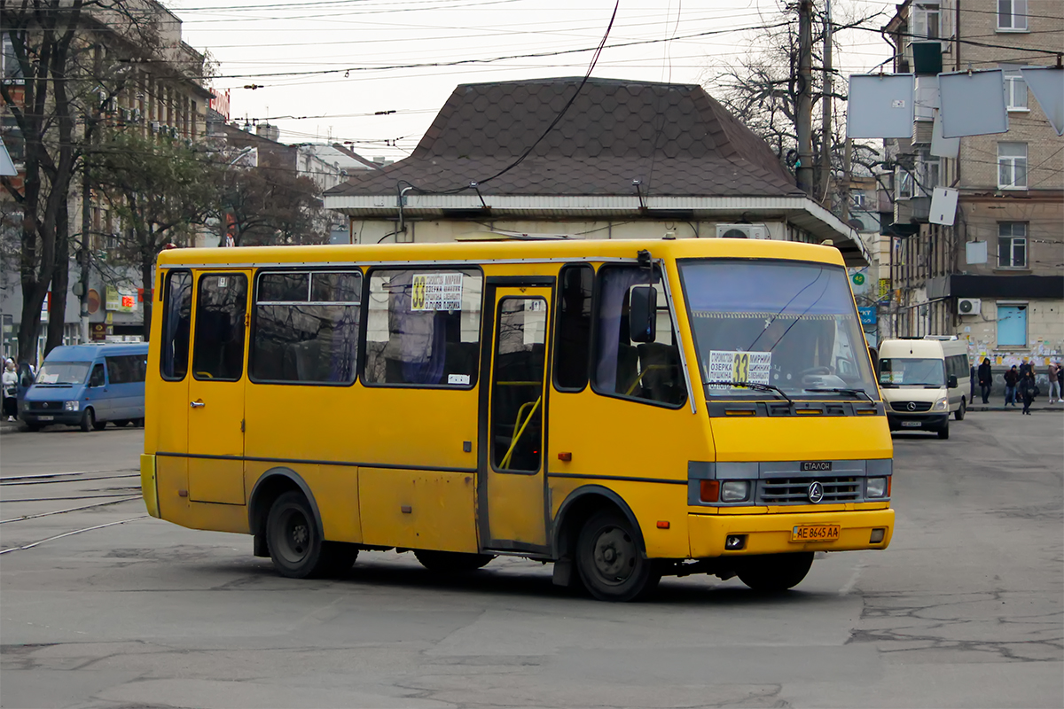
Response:
[{"label": "cream-white van facing forward, parked right of the yellow bus", "polygon": [[970,370],[967,343],[957,337],[884,340],[876,369],[891,431],[934,431],[949,438],[950,412],[964,419]]}]

